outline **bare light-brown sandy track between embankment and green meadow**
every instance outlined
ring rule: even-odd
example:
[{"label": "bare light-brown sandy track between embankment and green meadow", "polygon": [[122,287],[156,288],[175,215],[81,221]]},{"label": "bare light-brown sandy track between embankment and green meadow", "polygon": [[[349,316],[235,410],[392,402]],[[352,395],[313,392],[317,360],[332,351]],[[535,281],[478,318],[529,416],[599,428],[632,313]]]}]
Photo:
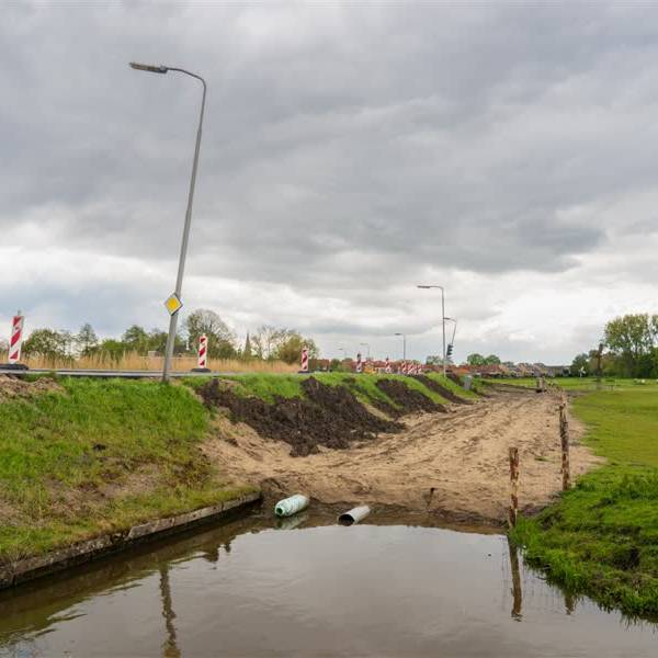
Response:
[{"label": "bare light-brown sandy track between embankment and green meadow", "polygon": [[[557,399],[534,392],[498,390],[449,413],[407,417],[407,430],[350,450],[291,457],[290,446],[222,418],[206,454],[235,481],[265,491],[303,491],[327,503],[395,504],[450,518],[502,521],[509,501],[508,447],[520,453],[520,504],[547,504],[559,491]],[[571,474],[600,463],[578,444],[570,418]]]}]

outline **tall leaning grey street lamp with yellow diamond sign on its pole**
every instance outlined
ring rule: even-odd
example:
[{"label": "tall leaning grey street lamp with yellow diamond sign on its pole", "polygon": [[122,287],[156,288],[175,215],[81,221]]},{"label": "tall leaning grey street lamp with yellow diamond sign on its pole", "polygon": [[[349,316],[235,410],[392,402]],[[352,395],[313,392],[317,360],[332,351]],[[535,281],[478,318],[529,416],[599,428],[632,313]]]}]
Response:
[{"label": "tall leaning grey street lamp with yellow diamond sign on its pole", "polygon": [[148,71],[151,73],[167,73],[169,71],[177,71],[179,73],[185,73],[185,76],[190,76],[192,78],[196,78],[203,84],[203,95],[201,98],[201,113],[198,116],[198,129],[196,131],[196,146],[194,147],[194,161],[192,163],[192,177],[190,179],[190,192],[188,193],[188,209],[185,212],[185,225],[183,228],[183,239],[181,242],[181,254],[179,258],[179,271],[175,280],[175,291],[173,296],[178,300],[178,308],[171,313],[171,319],[169,320],[169,334],[167,337],[167,348],[164,350],[164,365],[162,367],[162,382],[167,382],[169,377],[169,367],[171,365],[171,356],[173,355],[173,347],[175,343],[175,328],[178,325],[178,314],[182,308],[182,304],[180,304],[181,292],[183,287],[183,273],[185,271],[185,258],[188,256],[188,242],[190,240],[190,225],[192,224],[192,202],[194,200],[194,184],[196,183],[196,169],[198,167],[198,150],[201,148],[201,129],[203,126],[203,112],[205,110],[205,94],[206,94],[206,83],[205,80],[197,76],[196,73],[192,73],[186,71],[185,69],[175,68],[172,66],[152,66],[149,64],[137,64],[136,61],[131,61],[131,68],[134,68],[138,71]]}]

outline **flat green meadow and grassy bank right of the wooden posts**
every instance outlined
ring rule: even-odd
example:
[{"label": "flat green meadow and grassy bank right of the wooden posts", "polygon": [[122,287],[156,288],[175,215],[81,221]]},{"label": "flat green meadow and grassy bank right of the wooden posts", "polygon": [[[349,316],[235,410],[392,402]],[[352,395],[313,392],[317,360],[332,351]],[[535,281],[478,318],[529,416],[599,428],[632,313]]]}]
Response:
[{"label": "flat green meadow and grassy bank right of the wooden posts", "polygon": [[512,537],[531,564],[574,593],[629,615],[655,616],[658,390],[632,381],[617,385],[574,400],[576,416],[589,428],[586,444],[608,464],[582,477],[558,503],[522,519]]}]

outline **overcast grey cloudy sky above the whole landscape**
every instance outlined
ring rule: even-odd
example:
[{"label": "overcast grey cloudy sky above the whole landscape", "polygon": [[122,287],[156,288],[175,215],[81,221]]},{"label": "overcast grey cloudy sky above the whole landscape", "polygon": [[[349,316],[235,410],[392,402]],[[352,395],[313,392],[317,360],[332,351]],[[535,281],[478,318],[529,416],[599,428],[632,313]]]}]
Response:
[{"label": "overcast grey cloudy sky above the whole landscape", "polygon": [[0,21],[0,327],[183,302],[325,355],[570,362],[657,311],[658,8],[14,2]]}]

